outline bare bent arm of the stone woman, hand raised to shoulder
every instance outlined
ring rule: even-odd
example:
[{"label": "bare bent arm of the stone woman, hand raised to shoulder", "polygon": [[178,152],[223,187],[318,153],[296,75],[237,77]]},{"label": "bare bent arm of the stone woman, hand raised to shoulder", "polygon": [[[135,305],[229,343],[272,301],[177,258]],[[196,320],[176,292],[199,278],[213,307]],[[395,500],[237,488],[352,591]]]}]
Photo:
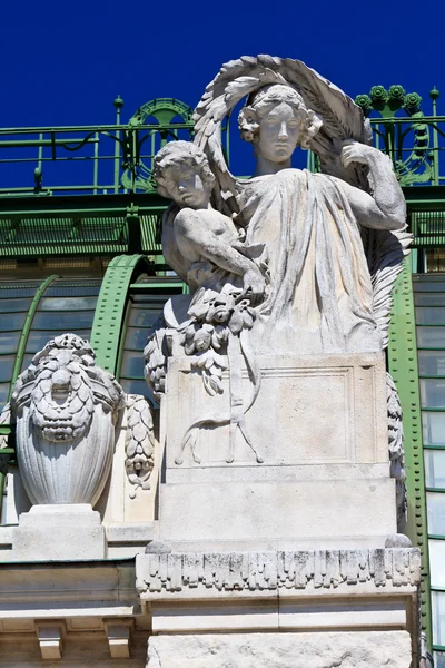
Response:
[{"label": "bare bent arm of the stone woman, hand raised to shoulder", "polygon": [[342,150],[342,163],[360,163],[369,168],[368,179],[373,195],[343,183],[353,213],[364,227],[400,229],[406,222],[406,204],[388,156],[373,146],[347,141]]}]

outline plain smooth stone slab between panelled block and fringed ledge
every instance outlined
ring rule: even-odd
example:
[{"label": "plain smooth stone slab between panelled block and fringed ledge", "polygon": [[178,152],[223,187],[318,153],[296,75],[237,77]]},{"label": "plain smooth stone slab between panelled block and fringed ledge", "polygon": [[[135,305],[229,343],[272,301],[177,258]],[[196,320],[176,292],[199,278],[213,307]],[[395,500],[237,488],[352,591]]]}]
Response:
[{"label": "plain smooth stone slab between panelled block and fringed ledge", "polygon": [[161,492],[159,539],[175,551],[384,548],[396,530],[389,478],[180,483]]}]

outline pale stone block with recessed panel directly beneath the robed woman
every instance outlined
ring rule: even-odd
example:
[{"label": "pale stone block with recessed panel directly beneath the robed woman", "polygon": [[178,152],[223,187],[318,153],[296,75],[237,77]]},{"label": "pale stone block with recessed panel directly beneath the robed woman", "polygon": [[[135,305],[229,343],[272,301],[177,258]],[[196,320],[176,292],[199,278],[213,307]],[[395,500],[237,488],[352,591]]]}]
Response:
[{"label": "pale stone block with recessed panel directly beneath the robed woman", "polygon": [[[383,354],[261,355],[258,364],[261,385],[246,413],[246,430],[263,468],[388,461]],[[230,415],[228,372],[222,394],[211,399],[186,356],[169,360],[167,377],[167,414],[176,415],[167,426],[167,481],[175,480],[171,470],[179,468],[234,468],[227,462],[230,426],[221,423],[221,416]],[[245,403],[249,389],[245,369]],[[187,429],[202,419],[194,448],[186,443],[180,458]],[[236,465],[258,468],[240,430],[234,454]]]}]

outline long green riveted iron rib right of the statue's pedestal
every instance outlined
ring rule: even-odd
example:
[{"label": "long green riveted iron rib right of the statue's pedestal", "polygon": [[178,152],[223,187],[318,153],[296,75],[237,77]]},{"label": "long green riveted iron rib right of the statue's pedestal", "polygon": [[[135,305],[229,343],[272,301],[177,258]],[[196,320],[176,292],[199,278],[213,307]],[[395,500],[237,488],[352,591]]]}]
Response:
[{"label": "long green riveted iron rib right of the statue's pedestal", "polygon": [[422,414],[418,390],[416,322],[409,257],[394,288],[394,306],[389,328],[389,372],[397,386],[403,410],[405,469],[408,495],[406,533],[422,554],[421,616],[422,630],[432,647],[429,598],[428,533],[426,522]]}]

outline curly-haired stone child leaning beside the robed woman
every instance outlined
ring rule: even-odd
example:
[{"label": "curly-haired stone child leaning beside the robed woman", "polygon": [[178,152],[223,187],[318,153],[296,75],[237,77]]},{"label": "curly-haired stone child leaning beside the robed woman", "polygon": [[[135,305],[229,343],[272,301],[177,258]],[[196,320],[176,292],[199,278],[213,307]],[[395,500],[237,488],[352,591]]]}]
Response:
[{"label": "curly-haired stone child leaning beside the robed woman", "polygon": [[154,177],[158,193],[176,204],[164,219],[168,264],[192,289],[240,288],[259,303],[266,284],[253,257],[264,246],[244,246],[243,230],[211,206],[215,176],[204,151],[189,141],[169,143],[155,157]]}]

